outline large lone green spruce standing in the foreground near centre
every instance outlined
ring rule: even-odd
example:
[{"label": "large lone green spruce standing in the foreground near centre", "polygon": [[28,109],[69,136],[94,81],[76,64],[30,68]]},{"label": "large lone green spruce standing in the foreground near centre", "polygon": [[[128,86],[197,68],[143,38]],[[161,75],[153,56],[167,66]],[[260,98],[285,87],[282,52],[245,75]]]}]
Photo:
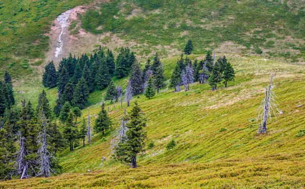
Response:
[{"label": "large lone green spruce standing in the foreground near centre", "polygon": [[137,102],[129,115],[126,116],[128,128],[123,140],[115,147],[115,156],[119,161],[130,164],[132,168],[137,167],[137,154],[144,150],[146,132],[146,119]]}]

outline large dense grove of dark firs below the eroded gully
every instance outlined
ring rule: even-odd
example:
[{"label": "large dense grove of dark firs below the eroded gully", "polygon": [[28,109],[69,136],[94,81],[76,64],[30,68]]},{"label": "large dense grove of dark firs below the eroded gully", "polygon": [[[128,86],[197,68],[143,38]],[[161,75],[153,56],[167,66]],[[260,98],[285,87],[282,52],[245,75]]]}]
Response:
[{"label": "large dense grove of dark firs below the eroded gully", "polygon": [[135,55],[129,48],[122,47],[115,60],[111,50],[104,52],[100,47],[99,51],[90,57],[82,54],[76,58],[70,54],[68,58],[63,58],[59,62],[57,72],[53,62],[49,62],[43,74],[43,85],[58,86],[55,115],[59,116],[66,102],[83,109],[90,92],[96,87],[107,87],[111,84],[112,76],[121,78],[129,75],[135,61]]}]

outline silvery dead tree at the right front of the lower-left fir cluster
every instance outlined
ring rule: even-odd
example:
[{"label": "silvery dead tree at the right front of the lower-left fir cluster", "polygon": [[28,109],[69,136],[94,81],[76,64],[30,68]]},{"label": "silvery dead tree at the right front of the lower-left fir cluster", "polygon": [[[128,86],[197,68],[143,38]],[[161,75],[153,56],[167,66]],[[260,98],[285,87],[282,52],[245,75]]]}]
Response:
[{"label": "silvery dead tree at the right front of the lower-left fir cluster", "polygon": [[54,159],[54,156],[48,151],[47,147],[47,133],[46,133],[46,125],[47,120],[44,115],[44,112],[41,114],[42,119],[42,132],[38,135],[37,143],[40,145],[38,149],[38,160],[37,163],[39,165],[39,172],[37,176],[49,177],[52,173],[55,173],[54,170],[51,169],[51,159]]}]

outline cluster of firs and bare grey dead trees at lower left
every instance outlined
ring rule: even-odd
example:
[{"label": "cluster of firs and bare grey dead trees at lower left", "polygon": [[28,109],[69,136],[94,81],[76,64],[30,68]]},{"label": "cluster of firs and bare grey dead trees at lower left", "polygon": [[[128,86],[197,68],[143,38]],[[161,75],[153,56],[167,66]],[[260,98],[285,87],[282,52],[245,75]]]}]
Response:
[{"label": "cluster of firs and bare grey dead trees at lower left", "polygon": [[60,172],[55,156],[65,139],[52,121],[46,93],[34,109],[30,101],[6,108],[0,118],[0,179],[21,179]]}]

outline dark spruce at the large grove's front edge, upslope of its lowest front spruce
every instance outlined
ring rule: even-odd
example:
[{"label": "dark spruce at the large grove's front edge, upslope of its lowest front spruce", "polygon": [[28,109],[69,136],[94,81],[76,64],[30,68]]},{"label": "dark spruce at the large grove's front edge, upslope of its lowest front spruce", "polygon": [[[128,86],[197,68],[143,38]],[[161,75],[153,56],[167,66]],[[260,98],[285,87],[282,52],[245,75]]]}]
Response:
[{"label": "dark spruce at the large grove's front edge, upslope of its lowest front spruce", "polygon": [[110,82],[110,74],[106,65],[105,59],[100,62],[98,73],[96,74],[95,82],[99,89],[103,89],[108,86]]}]

